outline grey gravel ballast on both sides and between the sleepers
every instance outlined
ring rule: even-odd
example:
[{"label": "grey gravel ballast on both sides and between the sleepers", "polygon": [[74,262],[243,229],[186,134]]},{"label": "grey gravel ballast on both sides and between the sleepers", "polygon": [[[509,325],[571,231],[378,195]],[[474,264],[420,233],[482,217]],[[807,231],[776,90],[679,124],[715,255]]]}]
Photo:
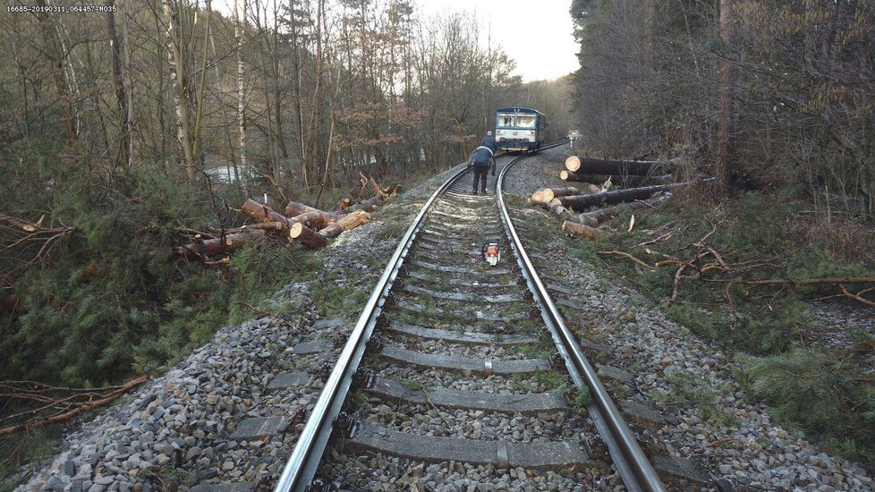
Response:
[{"label": "grey gravel ballast on both sides and between the sleepers", "polygon": [[[508,176],[510,191],[527,196],[539,187],[561,184],[545,181],[552,179],[545,169],[550,166],[557,176],[562,162],[559,156],[566,150],[547,150],[524,161],[525,165],[517,165]],[[209,344],[173,369],[149,380],[97,417],[75,423],[64,437],[65,451],[16,490],[210,490],[217,484],[268,489],[285,466],[303,426],[302,417],[319,397],[320,369],[336,360],[357,315],[352,312],[348,318],[336,316],[338,320],[327,322],[325,313],[313,304],[314,290],[324,283],[356,283],[370,294],[397,238],[437,183],[452,172],[404,193],[395,199],[397,204],[390,203],[371,223],[342,234],[320,250],[324,269],[317,278],[287,285],[272,297],[285,315],[219,330]],[[548,247],[526,242],[526,246],[541,259],[565,256],[561,244]],[[633,289],[594,273],[590,265],[576,259],[561,263],[536,259],[536,263],[550,276],[561,278],[564,287],[583,293],[573,300],[582,310],[565,309],[568,318],[576,320],[573,323],[582,335],[611,347],[610,359],[605,362],[632,374],[633,384],[611,384],[610,389],[623,393],[624,399],[658,408],[672,422],[655,429],[633,425],[633,429],[651,451],[690,459],[707,473],[709,481],[691,485],[692,489],[715,489],[718,479],[725,479],[730,489],[872,489],[873,482],[861,467],[788,432],[774,423],[768,408],[745,403],[731,374],[731,354],[690,335]],[[296,353],[295,347],[305,343],[319,343],[327,350]],[[441,350],[438,343],[427,346],[429,351]],[[493,350],[513,351],[507,347]],[[472,356],[494,353],[480,348],[471,351]],[[286,373],[307,373],[310,377],[302,385],[268,390],[271,381]],[[416,373],[409,369],[388,367],[383,376],[416,381]],[[518,391],[511,381],[496,376],[484,379],[446,372],[440,377],[446,379],[442,386],[453,389]],[[719,411],[726,416],[721,425],[702,419],[695,406],[655,403],[658,394],[671,394],[675,389],[670,381],[682,377],[719,394]],[[421,383],[436,384],[433,380]],[[534,391],[548,389],[533,377],[518,378],[515,385]],[[572,437],[565,435],[564,422],[556,418],[552,419],[555,428],[539,430],[527,428],[522,415],[508,418],[486,413],[480,428],[451,429],[442,429],[446,422],[438,422],[436,414],[419,420],[402,417],[419,407],[390,410],[392,413],[383,415],[383,423],[392,422],[399,428],[418,425],[431,428],[436,435],[491,437],[509,433],[514,438],[514,433],[519,433],[520,438],[527,438],[531,435],[526,432],[542,432]],[[457,412],[461,417],[466,411]],[[255,419],[262,419],[259,422],[268,434],[233,437],[242,430],[243,422]],[[270,435],[270,428],[285,432]],[[522,468],[496,471],[488,465],[459,462],[429,465],[381,454],[360,457],[344,466],[349,469],[336,471],[338,476],[358,477],[357,483],[373,484],[374,490],[623,489],[619,479],[610,474],[609,465],[599,462],[581,471],[577,483],[552,471],[532,475]]]}]

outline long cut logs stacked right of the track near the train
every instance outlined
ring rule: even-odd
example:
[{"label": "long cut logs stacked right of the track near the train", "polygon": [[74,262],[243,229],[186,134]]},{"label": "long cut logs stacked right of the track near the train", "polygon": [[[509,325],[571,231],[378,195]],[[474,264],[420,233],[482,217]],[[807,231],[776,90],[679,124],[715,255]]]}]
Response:
[{"label": "long cut logs stacked right of the track near the train", "polygon": [[[626,209],[654,207],[667,198],[665,194],[654,198],[657,194],[685,184],[671,183],[673,175],[665,174],[666,169],[666,163],[658,161],[571,156],[565,159],[565,170],[559,177],[577,185],[535,191],[529,203],[546,208],[557,216],[569,216],[562,225],[566,232],[599,239],[604,235],[604,231],[597,228],[602,222]],[[595,182],[601,184],[593,184]],[[610,191],[614,185],[636,188]],[[615,206],[577,213],[602,205]]]}]

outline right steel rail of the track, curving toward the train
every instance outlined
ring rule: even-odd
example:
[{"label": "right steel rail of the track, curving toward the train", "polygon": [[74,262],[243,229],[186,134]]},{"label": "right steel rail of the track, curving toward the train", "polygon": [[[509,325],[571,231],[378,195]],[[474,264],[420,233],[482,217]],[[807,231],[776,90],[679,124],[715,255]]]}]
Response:
[{"label": "right steel rail of the track, curving toward the train", "polygon": [[521,158],[516,158],[505,165],[501,173],[498,174],[496,183],[501,219],[505,224],[507,239],[510,241],[511,249],[514,250],[517,264],[520,266],[522,275],[529,284],[531,292],[535,294],[536,301],[539,302],[542,308],[541,316],[544,318],[544,322],[550,330],[550,335],[552,335],[559,353],[565,360],[565,366],[571,373],[575,384],[579,386],[585,384],[590,388],[592,399],[590,404],[587,405],[587,410],[590,411],[590,417],[607,444],[608,453],[611,455],[616,471],[620,474],[620,478],[623,479],[624,485],[632,491],[664,491],[666,489],[665,485],[659,479],[647,456],[641,451],[641,447],[635,441],[635,437],[633,437],[622,415],[617,411],[610,395],[607,394],[605,386],[601,384],[595,369],[593,369],[590,361],[587,361],[586,356],[583,355],[581,347],[574,339],[571,330],[565,326],[562,315],[556,310],[556,305],[550,298],[544,284],[540,281],[535,267],[531,264],[529,255],[526,254],[525,249],[522,247],[522,242],[520,242],[520,238],[516,234],[514,223],[505,206],[502,188],[504,187],[507,170]]}]

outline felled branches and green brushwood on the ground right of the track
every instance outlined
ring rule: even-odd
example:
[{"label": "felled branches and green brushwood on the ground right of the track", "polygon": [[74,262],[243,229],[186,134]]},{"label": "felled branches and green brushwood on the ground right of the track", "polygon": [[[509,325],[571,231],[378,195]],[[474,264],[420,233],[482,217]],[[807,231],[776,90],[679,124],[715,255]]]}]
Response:
[{"label": "felled branches and green brushwood on the ground right of the track", "polygon": [[752,402],[875,470],[875,230],[790,190],[714,195],[678,190],[634,228],[573,248],[735,353]]}]

